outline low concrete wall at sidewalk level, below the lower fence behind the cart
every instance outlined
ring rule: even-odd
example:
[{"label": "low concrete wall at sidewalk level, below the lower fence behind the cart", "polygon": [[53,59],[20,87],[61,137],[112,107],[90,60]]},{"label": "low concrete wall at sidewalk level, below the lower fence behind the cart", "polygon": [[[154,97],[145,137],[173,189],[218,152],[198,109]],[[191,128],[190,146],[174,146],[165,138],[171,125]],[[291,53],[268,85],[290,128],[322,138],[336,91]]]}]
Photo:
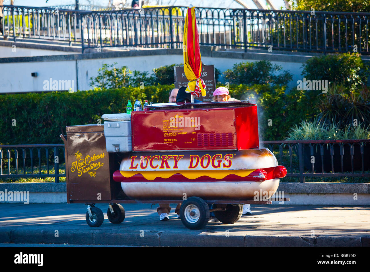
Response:
[{"label": "low concrete wall at sidewalk level, below the lower fence behind the cart", "polygon": [[[28,191],[30,203],[67,202],[64,182],[0,183],[0,192],[5,190]],[[273,205],[370,205],[370,183],[280,182],[276,195],[290,201],[273,201]]]}]

